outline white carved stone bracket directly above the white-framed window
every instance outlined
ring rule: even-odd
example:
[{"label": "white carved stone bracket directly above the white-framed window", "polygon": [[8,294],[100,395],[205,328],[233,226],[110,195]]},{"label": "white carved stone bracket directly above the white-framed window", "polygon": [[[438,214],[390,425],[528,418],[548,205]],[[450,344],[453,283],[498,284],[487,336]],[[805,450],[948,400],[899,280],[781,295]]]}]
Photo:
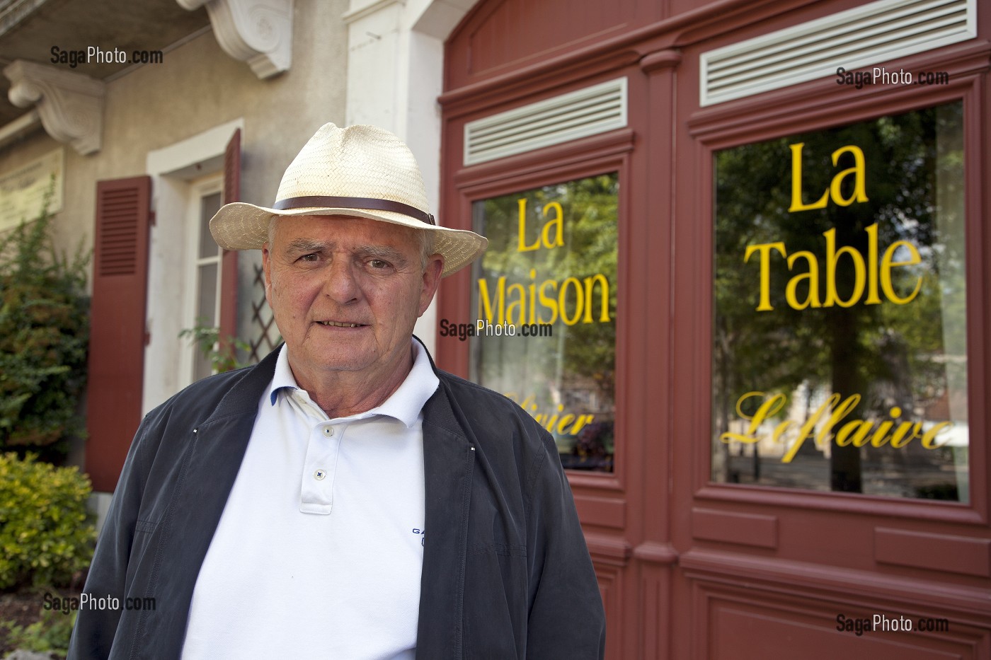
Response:
[{"label": "white carved stone bracket directly above the white-framed window", "polygon": [[192,11],[206,6],[220,48],[269,78],[292,63],[293,0],[175,0]]}]

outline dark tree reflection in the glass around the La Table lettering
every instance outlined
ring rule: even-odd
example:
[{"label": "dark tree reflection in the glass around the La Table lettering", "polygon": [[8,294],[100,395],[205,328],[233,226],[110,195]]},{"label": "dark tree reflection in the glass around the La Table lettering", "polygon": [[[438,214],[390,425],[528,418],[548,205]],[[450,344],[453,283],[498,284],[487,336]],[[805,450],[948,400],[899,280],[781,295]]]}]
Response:
[{"label": "dark tree reflection in the glass around the La Table lettering", "polygon": [[[859,393],[863,399],[851,415],[858,418],[885,418],[893,406],[906,411],[905,418],[923,418],[940,397],[947,395],[943,326],[957,332],[956,326],[965,325],[961,125],[962,106],[953,103],[716,155],[716,438],[735,417],[739,396],[751,390],[783,392],[790,403],[804,392],[805,401],[799,402],[804,403],[807,414],[816,407],[812,397],[817,391],[838,392],[844,398]],[[823,209],[789,213],[789,145],[800,142],[805,143],[802,172],[806,203],[819,199],[837,172],[853,166],[849,154],[840,156],[836,165],[830,161],[830,155],[845,145],[856,145],[865,155],[868,201],[838,206],[830,200]],[[844,198],[852,195],[852,184],[853,176],[847,176],[841,188]],[[789,255],[800,250],[816,255],[820,299],[825,300],[824,232],[834,228],[837,249],[852,246],[866,256],[866,229],[874,223],[878,225],[878,251],[882,255],[895,241],[918,246],[922,264],[892,271],[895,289],[902,292],[911,291],[914,284],[909,282],[923,275],[920,293],[911,303],[894,304],[882,297],[881,304],[865,305],[862,297],[850,307],[793,309],[785,299],[785,286],[804,270],[803,262],[790,272],[786,260],[772,253],[770,301],[774,309],[755,311],[759,260],[753,255],[744,264],[747,246],[780,241]],[[940,274],[940,266],[945,274]],[[848,256],[839,258],[835,276],[840,298],[848,298],[854,287]],[[799,289],[801,298],[806,291],[801,285]],[[944,316],[951,321],[939,322]],[[962,341],[951,343],[963,346]],[[959,377],[954,378],[959,381]],[[960,391],[960,383],[955,385],[954,390]],[[965,395],[965,385],[962,391]],[[737,450],[716,441],[714,478],[766,481],[762,480],[766,470],[762,475],[758,446],[738,450],[752,452],[752,472],[744,474],[741,464],[733,460]],[[878,474],[891,473],[894,468],[899,478],[908,482],[911,465],[936,459],[933,451],[918,441],[901,450],[888,446],[861,450],[831,444],[825,451],[807,441],[788,467],[797,477],[823,479],[821,472],[803,474],[799,464],[802,458],[822,463],[826,452],[828,484],[803,484],[799,479],[797,484],[778,485],[871,492],[877,487],[868,485],[865,489],[865,462]],[[780,466],[775,465],[779,460],[765,457],[763,467],[778,468],[780,473]],[[927,495],[917,493],[909,483],[902,484],[901,489],[899,495]],[[943,495],[956,498],[946,489]]]}]

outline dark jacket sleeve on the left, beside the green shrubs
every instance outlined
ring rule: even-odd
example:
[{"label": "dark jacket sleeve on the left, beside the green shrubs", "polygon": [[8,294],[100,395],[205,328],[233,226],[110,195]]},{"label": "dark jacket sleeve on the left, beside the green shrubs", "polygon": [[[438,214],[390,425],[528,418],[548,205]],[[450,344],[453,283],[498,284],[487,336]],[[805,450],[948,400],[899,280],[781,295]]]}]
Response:
[{"label": "dark jacket sleeve on the left, beside the green shrubs", "polygon": [[110,656],[127,596],[128,561],[148,474],[144,448],[150,426],[149,417],[146,417],[128,450],[120,480],[96,542],[86,585],[83,587],[83,594],[87,599],[109,597],[104,602],[107,606],[90,607],[80,599],[67,660],[102,659]]}]

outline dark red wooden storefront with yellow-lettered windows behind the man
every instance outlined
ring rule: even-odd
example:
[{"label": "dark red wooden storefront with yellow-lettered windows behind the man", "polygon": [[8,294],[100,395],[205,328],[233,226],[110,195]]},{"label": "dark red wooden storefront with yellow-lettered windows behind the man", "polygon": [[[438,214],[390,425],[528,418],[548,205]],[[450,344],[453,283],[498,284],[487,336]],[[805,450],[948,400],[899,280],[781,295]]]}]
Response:
[{"label": "dark red wooden storefront with yellow-lettered windows behind the man", "polygon": [[[989,13],[973,2],[576,4],[484,0],[447,42],[440,217],[485,223],[497,259],[446,282],[439,316],[516,313],[557,322],[575,342],[613,342],[606,367],[548,385],[559,405],[542,418],[575,437],[606,418],[597,451],[581,438],[560,446],[606,603],[607,657],[991,658]],[[834,72],[874,66],[903,77],[858,86]],[[525,133],[538,124],[546,135]],[[828,165],[815,149],[830,140]],[[875,168],[882,156],[892,169]],[[734,179],[740,171],[752,178]],[[917,174],[918,185],[896,184]],[[562,227],[579,232],[579,221],[566,216],[588,218],[602,200],[614,200],[614,243],[595,241],[601,224],[570,243]],[[844,248],[843,227],[862,250]],[[762,238],[776,232],[785,238]],[[598,261],[568,271],[589,251],[614,275]],[[497,298],[496,277],[531,257],[516,296],[507,275]],[[914,270],[929,260],[941,277],[932,295],[930,275]],[[932,333],[908,330],[936,312],[937,349]],[[607,330],[580,333],[594,326]],[[865,328],[850,335],[863,339],[860,362],[837,357],[838,327]],[[797,338],[776,344],[790,328]],[[512,373],[490,375],[502,355],[490,338],[468,339],[441,332],[439,364],[510,383]],[[825,348],[803,365],[801,342]],[[891,367],[893,355],[908,366]],[[583,359],[558,364],[581,371],[569,365]],[[945,367],[937,381],[934,365]],[[729,372],[742,382],[726,385]],[[799,392],[802,419],[823,411],[806,447],[783,407]],[[862,414],[850,412],[861,393]],[[598,406],[597,421],[583,426],[582,405]],[[850,439],[870,424],[873,442]],[[778,428],[790,440],[775,445]]]}]

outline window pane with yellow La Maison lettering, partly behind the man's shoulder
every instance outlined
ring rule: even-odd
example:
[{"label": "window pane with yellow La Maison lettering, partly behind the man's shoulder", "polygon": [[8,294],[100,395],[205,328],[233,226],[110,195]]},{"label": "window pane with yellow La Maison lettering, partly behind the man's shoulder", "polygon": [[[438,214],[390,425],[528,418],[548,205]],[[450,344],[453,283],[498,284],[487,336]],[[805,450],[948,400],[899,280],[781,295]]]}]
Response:
[{"label": "window pane with yellow La Maison lettering, partly behind the man's shoulder", "polygon": [[533,415],[573,470],[612,471],[617,187],[613,172],[473,205],[489,250],[472,379]]}]

